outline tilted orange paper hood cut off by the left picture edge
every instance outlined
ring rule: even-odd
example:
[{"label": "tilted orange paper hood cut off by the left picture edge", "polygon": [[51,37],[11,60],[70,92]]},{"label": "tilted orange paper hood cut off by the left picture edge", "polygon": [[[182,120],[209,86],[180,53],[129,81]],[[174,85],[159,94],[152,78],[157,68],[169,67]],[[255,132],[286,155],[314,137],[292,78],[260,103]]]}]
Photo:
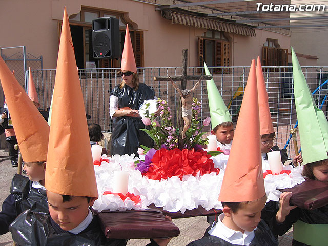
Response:
[{"label": "tilted orange paper hood cut off by the left picture edge", "polygon": [[46,161],[49,125],[1,57],[0,80],[24,161]]}]

